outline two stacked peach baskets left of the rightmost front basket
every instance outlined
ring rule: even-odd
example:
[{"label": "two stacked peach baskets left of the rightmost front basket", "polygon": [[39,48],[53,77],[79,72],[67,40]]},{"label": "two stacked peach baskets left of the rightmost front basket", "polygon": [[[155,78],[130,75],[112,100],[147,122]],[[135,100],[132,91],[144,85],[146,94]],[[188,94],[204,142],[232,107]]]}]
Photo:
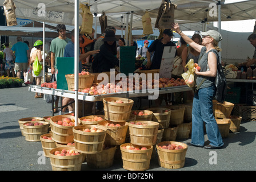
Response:
[{"label": "two stacked peach baskets left of the rightmost front basket", "polygon": [[[130,171],[144,171],[149,169],[153,145],[157,142],[158,122],[130,121],[129,133],[131,143],[120,146],[123,168]],[[127,146],[137,148],[131,150]]]}]

